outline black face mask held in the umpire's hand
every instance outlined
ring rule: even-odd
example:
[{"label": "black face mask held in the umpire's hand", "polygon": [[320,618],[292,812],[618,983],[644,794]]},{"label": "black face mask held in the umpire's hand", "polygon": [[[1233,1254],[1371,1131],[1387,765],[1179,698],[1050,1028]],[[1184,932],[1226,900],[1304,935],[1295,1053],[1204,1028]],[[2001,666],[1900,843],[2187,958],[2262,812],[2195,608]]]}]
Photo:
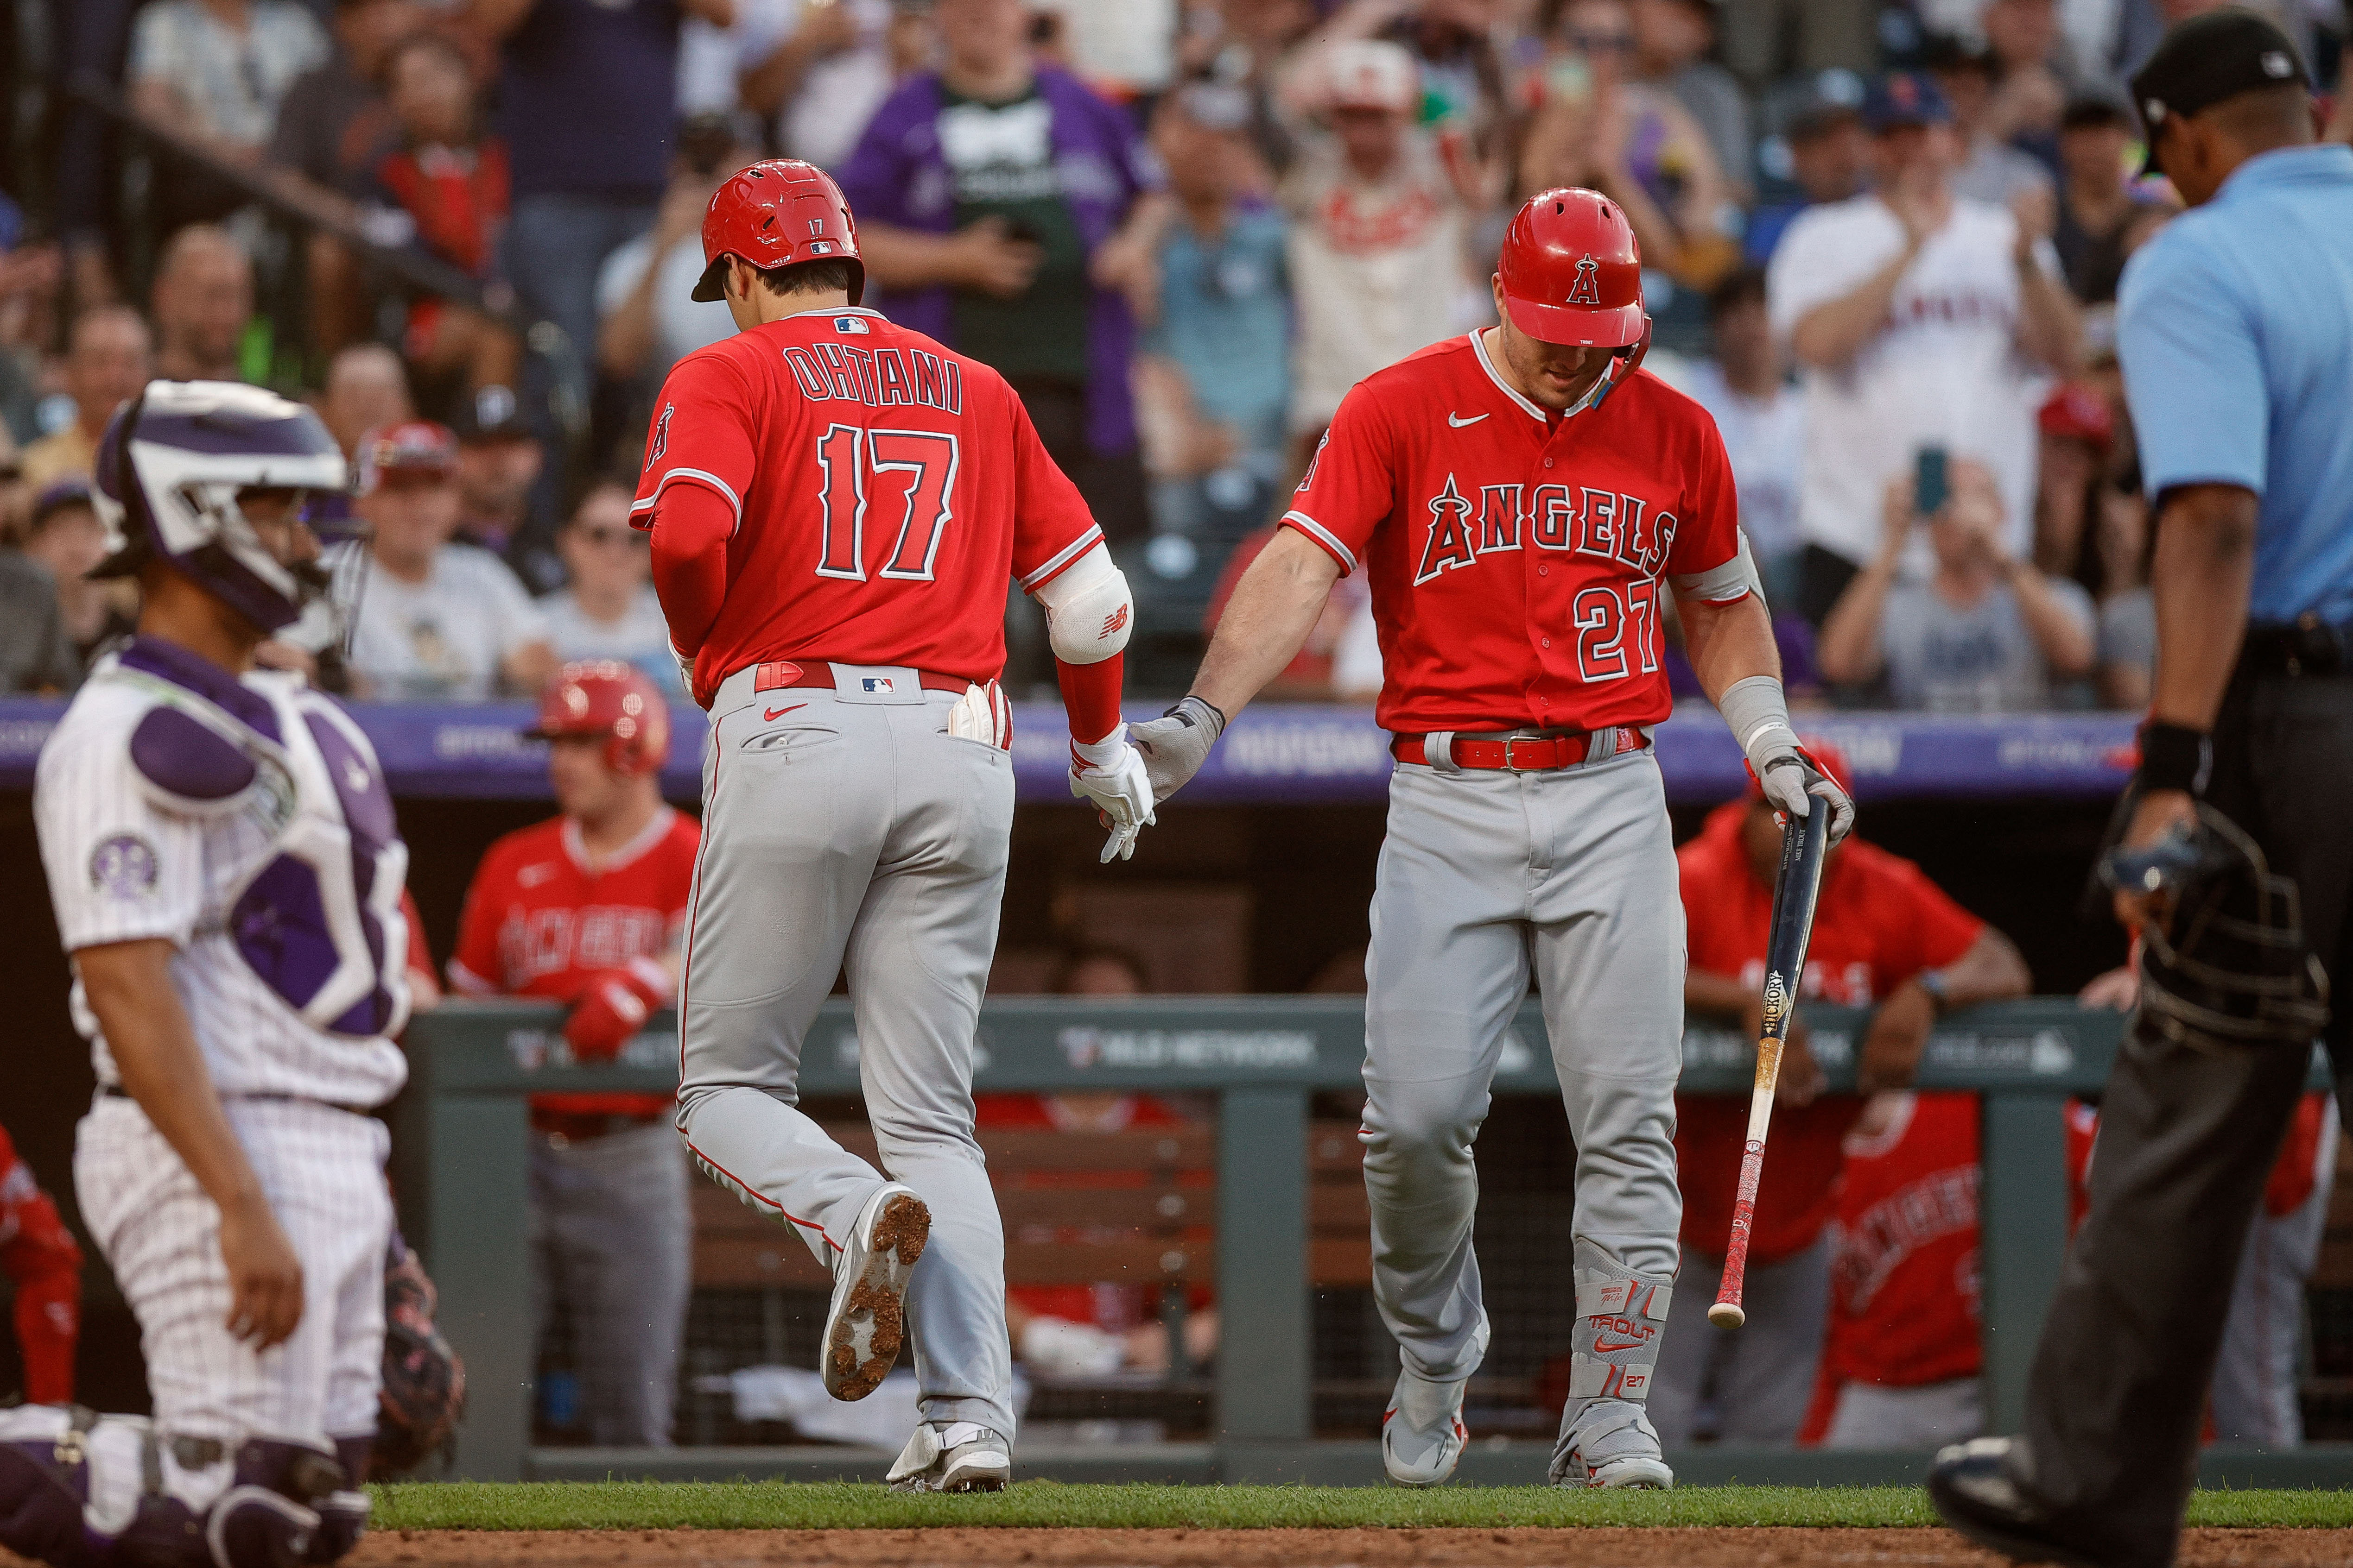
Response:
[{"label": "black face mask held in the umpire's hand", "polygon": [[2151,896],[2141,1020],[2160,1037],[2308,1048],[2329,1020],[2329,980],[2304,945],[2297,884],[2273,872],[2264,849],[2214,806],[2200,804],[2198,827],[2177,827],[2146,849],[2111,844],[2099,879]]}]

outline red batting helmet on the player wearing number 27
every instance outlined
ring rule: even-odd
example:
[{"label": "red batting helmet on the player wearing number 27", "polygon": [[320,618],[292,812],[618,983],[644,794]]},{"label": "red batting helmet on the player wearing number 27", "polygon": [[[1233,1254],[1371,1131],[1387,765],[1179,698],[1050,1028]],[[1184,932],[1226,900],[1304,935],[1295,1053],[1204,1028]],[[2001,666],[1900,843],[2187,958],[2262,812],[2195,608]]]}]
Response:
[{"label": "red batting helmet on the player wearing number 27", "polygon": [[1649,334],[1642,247],[1600,190],[1529,197],[1504,230],[1497,273],[1511,324],[1541,343],[1633,348]]}]

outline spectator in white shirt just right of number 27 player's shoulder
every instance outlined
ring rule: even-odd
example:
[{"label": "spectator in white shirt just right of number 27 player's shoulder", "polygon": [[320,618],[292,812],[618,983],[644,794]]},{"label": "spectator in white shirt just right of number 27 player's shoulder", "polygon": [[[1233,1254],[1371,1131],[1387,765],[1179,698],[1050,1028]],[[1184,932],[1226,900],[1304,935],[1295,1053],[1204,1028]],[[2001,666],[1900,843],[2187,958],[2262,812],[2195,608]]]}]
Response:
[{"label": "spectator in white shirt just right of number 27 player's shoulder", "polygon": [[1741,501],[1741,531],[1765,576],[1765,602],[1788,609],[1798,592],[1798,473],[1805,404],[1781,374],[1765,320],[1765,270],[1739,268],[1708,294],[1715,357],[1692,371],[1689,393],[1715,418]]}]

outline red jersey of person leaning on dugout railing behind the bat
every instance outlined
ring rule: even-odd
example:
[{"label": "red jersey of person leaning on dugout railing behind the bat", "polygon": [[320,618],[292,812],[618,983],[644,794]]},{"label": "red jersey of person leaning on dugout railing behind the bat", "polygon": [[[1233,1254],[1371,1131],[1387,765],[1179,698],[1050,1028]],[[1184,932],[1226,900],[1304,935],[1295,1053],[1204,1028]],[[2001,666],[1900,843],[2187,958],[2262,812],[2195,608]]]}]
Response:
[{"label": "red jersey of person leaning on dugout railing behind the bat", "polygon": [[[1682,912],[1689,966],[1765,983],[1765,943],[1772,933],[1772,889],[1755,879],[1741,849],[1737,799],[1708,813],[1701,830],[1675,851],[1682,872]],[[1911,860],[1875,844],[1847,839],[1821,875],[1814,945],[1800,994],[1845,1006],[1871,1006],[1922,969],[1944,969],[1977,943],[1977,919]],[[1821,1095],[1795,1110],[1774,1107],[1772,1157],[1758,1185],[1753,1262],[1802,1253],[1831,1218],[1831,1185],[1842,1164],[1840,1138],[1861,1114],[1854,1095]],[[1748,1138],[1748,1100],[1675,1095],[1675,1164],[1682,1182],[1682,1239],[1708,1258],[1725,1255],[1732,1234],[1732,1194],[1739,1187]]]}]

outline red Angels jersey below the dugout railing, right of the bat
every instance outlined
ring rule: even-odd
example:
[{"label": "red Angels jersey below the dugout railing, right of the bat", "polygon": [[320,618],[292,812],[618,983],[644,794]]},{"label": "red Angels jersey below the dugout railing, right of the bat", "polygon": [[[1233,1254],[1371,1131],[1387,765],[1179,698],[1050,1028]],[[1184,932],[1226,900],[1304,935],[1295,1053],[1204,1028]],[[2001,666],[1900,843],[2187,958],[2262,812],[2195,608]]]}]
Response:
[{"label": "red Angels jersey below the dugout railing, right of the bat", "polygon": [[1984,1361],[1977,1095],[1904,1100],[1882,1133],[1845,1143],[1824,1380],[1901,1389],[1974,1378]]}]

